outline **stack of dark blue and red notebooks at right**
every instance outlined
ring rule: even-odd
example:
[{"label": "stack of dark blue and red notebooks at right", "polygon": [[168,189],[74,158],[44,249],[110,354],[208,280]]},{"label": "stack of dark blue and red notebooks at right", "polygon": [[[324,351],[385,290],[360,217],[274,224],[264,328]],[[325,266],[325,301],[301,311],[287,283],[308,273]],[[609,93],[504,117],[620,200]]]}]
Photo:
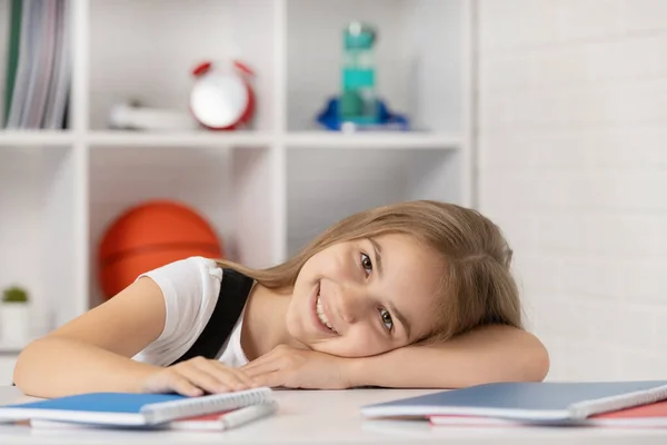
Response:
[{"label": "stack of dark blue and red notebooks at right", "polygon": [[361,407],[431,425],[667,426],[667,380],[492,383]]}]

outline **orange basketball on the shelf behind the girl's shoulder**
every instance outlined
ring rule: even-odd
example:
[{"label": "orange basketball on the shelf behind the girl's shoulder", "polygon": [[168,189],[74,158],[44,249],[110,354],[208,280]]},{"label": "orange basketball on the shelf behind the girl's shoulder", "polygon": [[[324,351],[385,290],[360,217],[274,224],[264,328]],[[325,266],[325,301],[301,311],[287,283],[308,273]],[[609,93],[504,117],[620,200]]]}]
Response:
[{"label": "orange basketball on the shelf behind the girl's shoulder", "polygon": [[111,298],[156,267],[191,256],[222,255],[221,241],[193,209],[167,200],[145,202],[122,214],[102,236],[100,286],[104,298]]}]

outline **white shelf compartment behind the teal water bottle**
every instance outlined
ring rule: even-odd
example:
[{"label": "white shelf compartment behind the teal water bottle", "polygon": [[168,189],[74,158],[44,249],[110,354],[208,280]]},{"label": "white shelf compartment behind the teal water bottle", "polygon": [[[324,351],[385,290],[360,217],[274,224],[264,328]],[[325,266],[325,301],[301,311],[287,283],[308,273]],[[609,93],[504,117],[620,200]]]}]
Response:
[{"label": "white shelf compartment behind the teal water bottle", "polygon": [[287,126],[318,128],[316,116],[340,91],[342,30],[377,26],[377,88],[412,128],[462,130],[466,7],[454,0],[287,0]]}]

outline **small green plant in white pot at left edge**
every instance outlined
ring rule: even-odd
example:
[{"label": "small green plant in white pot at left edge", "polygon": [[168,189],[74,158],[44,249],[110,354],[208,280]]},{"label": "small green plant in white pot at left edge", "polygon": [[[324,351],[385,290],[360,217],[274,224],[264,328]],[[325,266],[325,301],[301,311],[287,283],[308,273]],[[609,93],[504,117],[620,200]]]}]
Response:
[{"label": "small green plant in white pot at left edge", "polygon": [[3,346],[26,346],[30,323],[29,310],[30,296],[28,290],[19,286],[11,286],[2,290],[0,343]]}]

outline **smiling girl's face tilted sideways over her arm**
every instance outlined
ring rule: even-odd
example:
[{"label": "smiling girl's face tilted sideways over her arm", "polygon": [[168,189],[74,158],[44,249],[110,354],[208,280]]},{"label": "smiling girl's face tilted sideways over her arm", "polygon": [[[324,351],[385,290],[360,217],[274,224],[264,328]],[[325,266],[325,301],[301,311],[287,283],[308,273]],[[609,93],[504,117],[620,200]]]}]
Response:
[{"label": "smiling girl's face tilted sideways over her arm", "polygon": [[434,325],[444,261],[388,234],[330,246],[301,268],[287,312],[295,339],[344,357],[409,345]]}]

